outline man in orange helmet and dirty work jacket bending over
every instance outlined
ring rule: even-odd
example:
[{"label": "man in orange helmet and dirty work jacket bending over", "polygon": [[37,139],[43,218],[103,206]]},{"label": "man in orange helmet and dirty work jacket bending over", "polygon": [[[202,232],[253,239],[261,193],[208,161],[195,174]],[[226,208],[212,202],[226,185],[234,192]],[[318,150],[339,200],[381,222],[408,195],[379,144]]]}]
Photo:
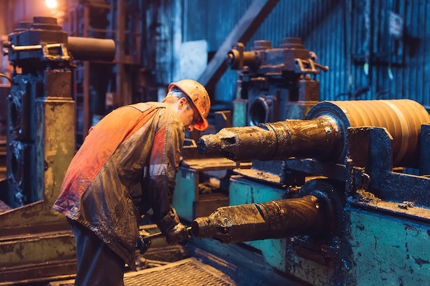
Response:
[{"label": "man in orange helmet and dirty work jacket bending over", "polygon": [[139,222],[150,208],[168,243],[188,239],[172,195],[185,130],[205,130],[209,110],[203,85],[180,80],[163,102],[122,106],[89,130],[53,206],[76,240],[75,285],[124,285],[125,263],[136,270]]}]

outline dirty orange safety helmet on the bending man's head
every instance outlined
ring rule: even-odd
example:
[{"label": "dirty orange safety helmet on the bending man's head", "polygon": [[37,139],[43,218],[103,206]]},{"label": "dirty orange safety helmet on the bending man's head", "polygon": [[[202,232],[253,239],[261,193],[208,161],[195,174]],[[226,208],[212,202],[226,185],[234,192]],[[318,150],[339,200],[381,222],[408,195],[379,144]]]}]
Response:
[{"label": "dirty orange safety helmet on the bending man's head", "polygon": [[179,80],[179,82],[172,82],[169,84],[168,91],[172,88],[179,88],[185,95],[187,95],[199,111],[201,121],[194,125],[194,128],[203,131],[209,126],[207,123],[207,115],[210,110],[210,98],[206,88],[195,80]]}]

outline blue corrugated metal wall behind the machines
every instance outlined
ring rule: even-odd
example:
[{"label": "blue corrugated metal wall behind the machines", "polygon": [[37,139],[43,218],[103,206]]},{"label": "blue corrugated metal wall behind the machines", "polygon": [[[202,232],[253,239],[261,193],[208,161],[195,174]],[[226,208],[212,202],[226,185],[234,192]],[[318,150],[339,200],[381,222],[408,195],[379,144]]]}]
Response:
[{"label": "blue corrugated metal wall behind the machines", "polygon": [[[182,40],[207,40],[216,51],[251,0],[183,0]],[[403,37],[389,34],[389,15],[403,18]],[[280,0],[247,43],[302,38],[320,64],[321,100],[410,98],[429,105],[430,1]],[[216,86],[220,101],[234,99],[236,71],[227,70]],[[368,91],[367,91],[368,90]]]}]

